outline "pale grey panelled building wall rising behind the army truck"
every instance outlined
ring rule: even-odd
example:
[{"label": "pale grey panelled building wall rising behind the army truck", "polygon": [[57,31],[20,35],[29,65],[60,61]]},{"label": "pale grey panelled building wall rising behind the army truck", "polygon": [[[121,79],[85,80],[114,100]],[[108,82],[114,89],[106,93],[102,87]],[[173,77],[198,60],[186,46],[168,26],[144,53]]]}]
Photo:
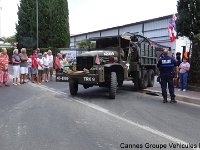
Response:
[{"label": "pale grey panelled building wall rising behind the army truck", "polygon": [[72,46],[72,48],[75,48],[77,42],[92,37],[117,36],[121,35],[124,32],[131,32],[143,35],[160,45],[171,47],[171,49],[175,51],[176,43],[178,43],[176,41],[178,40],[176,40],[175,42],[170,42],[168,33],[169,19],[171,17],[172,15],[168,15],[160,18],[127,24],[124,26],[74,35],[71,36],[70,46]]}]

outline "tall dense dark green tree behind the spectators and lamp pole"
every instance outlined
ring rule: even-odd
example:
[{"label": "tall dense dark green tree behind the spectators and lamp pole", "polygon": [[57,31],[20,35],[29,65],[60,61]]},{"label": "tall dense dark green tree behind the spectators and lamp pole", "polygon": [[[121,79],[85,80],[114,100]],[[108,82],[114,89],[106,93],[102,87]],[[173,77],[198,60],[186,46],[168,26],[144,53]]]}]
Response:
[{"label": "tall dense dark green tree behind the spectators and lamp pole", "polygon": [[[18,47],[36,48],[36,0],[21,0],[18,6]],[[38,0],[39,47],[69,47],[67,0]]]}]

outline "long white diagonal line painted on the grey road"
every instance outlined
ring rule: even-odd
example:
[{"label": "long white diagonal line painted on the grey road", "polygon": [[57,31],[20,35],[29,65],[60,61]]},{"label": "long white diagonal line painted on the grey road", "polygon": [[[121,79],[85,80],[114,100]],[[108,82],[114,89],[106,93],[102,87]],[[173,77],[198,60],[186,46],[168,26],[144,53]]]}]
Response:
[{"label": "long white diagonal line painted on the grey road", "polygon": [[[63,93],[64,93],[64,92],[57,92],[57,91],[54,91],[54,90],[52,90],[52,89],[49,89],[47,86],[38,86],[38,87],[40,87],[40,88],[45,88],[45,89],[47,89],[47,90],[49,90],[49,91],[51,91],[51,92],[53,92],[53,93],[55,93],[55,94],[63,94]],[[67,93],[64,93],[64,94],[67,94]],[[170,141],[172,141],[172,142],[179,143],[179,144],[184,144],[184,145],[189,145],[188,142],[185,142],[185,141],[183,141],[183,140],[181,140],[181,139],[178,139],[178,138],[176,138],[176,137],[170,136],[170,135],[168,135],[168,134],[165,134],[164,132],[158,131],[158,130],[153,129],[153,128],[150,128],[150,127],[148,127],[148,126],[141,125],[141,124],[139,124],[139,123],[137,123],[137,122],[133,122],[133,121],[131,121],[131,120],[128,120],[128,119],[123,118],[123,117],[121,117],[121,116],[118,116],[118,115],[116,115],[116,114],[113,114],[113,113],[110,112],[109,110],[104,109],[104,108],[102,108],[101,106],[98,106],[98,105],[95,105],[95,104],[92,104],[92,103],[89,103],[89,102],[85,102],[83,99],[80,99],[80,98],[69,98],[69,99],[70,99],[70,100],[73,100],[73,101],[75,101],[75,102],[77,102],[77,103],[79,103],[79,104],[82,104],[82,105],[85,105],[85,106],[90,107],[90,108],[92,108],[92,109],[95,109],[95,110],[97,110],[97,111],[99,111],[99,112],[102,112],[102,113],[104,113],[104,114],[106,114],[106,115],[108,115],[108,116],[111,116],[111,117],[113,117],[113,118],[116,118],[116,119],[118,119],[118,120],[121,120],[121,121],[123,121],[123,122],[126,122],[126,123],[128,123],[128,124],[131,124],[131,125],[133,125],[133,126],[135,126],[135,127],[138,127],[138,128],[143,129],[143,130],[145,130],[145,131],[148,131],[148,132],[150,132],[150,133],[152,133],[152,134],[154,134],[154,135],[158,135],[158,136],[160,136],[160,137],[163,137],[163,138],[165,138],[165,139],[168,139],[168,140],[170,140]],[[191,149],[200,150],[200,148],[191,148]]]}]

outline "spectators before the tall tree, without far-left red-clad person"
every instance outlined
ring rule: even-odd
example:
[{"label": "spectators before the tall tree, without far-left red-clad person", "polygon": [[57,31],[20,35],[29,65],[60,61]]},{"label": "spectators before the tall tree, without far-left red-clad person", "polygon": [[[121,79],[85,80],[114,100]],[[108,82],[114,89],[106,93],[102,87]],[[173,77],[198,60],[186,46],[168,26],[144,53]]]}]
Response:
[{"label": "spectators before the tall tree, without far-left red-clad person", "polygon": [[53,62],[51,50],[42,54],[40,49],[37,49],[28,56],[25,48],[21,49],[20,54],[18,49],[15,49],[12,56],[13,85],[24,84],[28,80],[41,84],[42,82],[48,82],[49,76],[52,80]]}]

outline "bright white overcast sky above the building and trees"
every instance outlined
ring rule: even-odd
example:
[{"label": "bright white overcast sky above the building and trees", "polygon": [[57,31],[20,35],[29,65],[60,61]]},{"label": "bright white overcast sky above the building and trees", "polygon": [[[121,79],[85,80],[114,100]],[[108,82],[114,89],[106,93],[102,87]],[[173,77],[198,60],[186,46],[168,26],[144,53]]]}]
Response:
[{"label": "bright white overcast sky above the building and trees", "polygon": [[[1,36],[15,34],[20,0],[0,0]],[[70,34],[80,34],[177,13],[177,0],[68,0]]]}]

